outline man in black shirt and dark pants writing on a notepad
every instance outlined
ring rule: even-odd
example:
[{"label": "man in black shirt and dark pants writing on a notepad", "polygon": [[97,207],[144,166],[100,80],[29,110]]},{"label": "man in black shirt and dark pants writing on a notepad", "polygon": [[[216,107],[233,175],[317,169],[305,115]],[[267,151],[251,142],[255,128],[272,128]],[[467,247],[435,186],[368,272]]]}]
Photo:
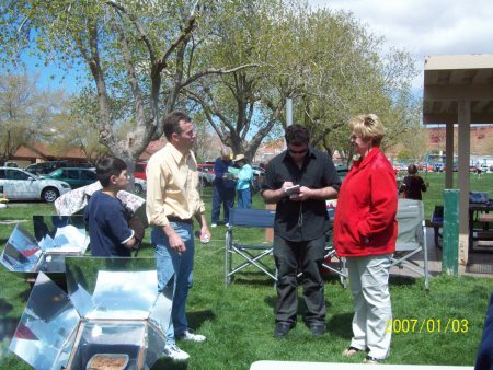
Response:
[{"label": "man in black shirt and dark pants writing on a notepad", "polygon": [[[274,259],[277,275],[276,326],[283,337],[296,324],[297,274],[301,271],[305,322],[314,336],[325,332],[325,300],[321,266],[330,220],[325,199],[337,197],[341,181],[326,153],[308,146],[308,130],[300,125],[286,129],[287,150],[267,166],[262,196],[277,204],[274,222]],[[298,189],[289,187],[299,185]]]}]

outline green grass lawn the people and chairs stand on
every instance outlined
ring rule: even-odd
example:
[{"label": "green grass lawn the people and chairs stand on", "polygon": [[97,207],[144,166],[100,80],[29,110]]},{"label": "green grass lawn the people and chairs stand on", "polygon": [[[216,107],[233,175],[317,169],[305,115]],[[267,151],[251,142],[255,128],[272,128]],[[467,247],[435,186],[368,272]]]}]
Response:
[{"label": "green grass lawn the people and chairs stand on", "polygon": [[[443,174],[424,176],[431,183],[425,194],[426,215],[440,204]],[[471,189],[492,188],[493,175],[471,177]],[[210,189],[204,190],[207,216],[210,215]],[[255,195],[254,208],[265,205]],[[35,204],[0,210],[0,220],[31,219],[32,215],[54,213],[53,206]],[[0,228],[0,244],[4,245],[13,226]],[[211,229],[207,245],[196,244],[194,287],[188,297],[191,326],[207,336],[204,344],[179,343],[191,355],[186,365],[159,360],[152,369],[249,369],[257,360],[296,360],[324,362],[360,362],[362,356],[343,358],[341,352],[352,336],[353,300],[333,276],[326,276],[328,333],[313,338],[299,320],[297,327],[283,339],[273,337],[276,293],[272,281],[250,269],[240,274],[228,289],[223,285],[223,227]],[[147,233],[149,234],[149,233]],[[263,231],[240,234],[262,241]],[[146,236],[139,257],[152,257],[153,250]],[[30,286],[14,274],[0,267],[0,313],[2,331],[11,333],[24,310]],[[392,336],[391,356],[387,363],[462,365],[473,366],[479,346],[490,293],[491,279],[438,276],[431,281],[426,294],[423,279],[392,277],[390,282],[393,317],[403,325]],[[302,304],[300,304],[300,310]],[[299,317],[301,319],[301,317]],[[406,327],[411,324],[410,327]],[[412,328],[413,324],[415,325]],[[439,327],[438,327],[439,326]],[[447,327],[447,331],[445,328]],[[405,332],[405,333],[404,333]],[[5,350],[10,339],[3,338]],[[0,358],[0,369],[30,369],[13,354]]]}]

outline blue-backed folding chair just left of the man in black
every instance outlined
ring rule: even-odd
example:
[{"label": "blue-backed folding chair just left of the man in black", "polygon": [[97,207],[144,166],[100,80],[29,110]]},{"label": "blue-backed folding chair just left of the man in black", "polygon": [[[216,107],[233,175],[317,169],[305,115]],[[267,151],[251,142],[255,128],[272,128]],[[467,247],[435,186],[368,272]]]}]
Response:
[{"label": "blue-backed folding chair just left of the man in black", "polygon": [[[229,210],[229,226],[226,231],[226,259],[225,259],[225,285],[228,287],[234,274],[249,266],[255,266],[262,273],[266,274],[274,281],[277,281],[274,264],[267,265],[263,257],[272,255],[273,246],[271,243],[262,244],[240,244],[238,238],[233,235],[238,228],[261,228],[264,235],[265,228],[274,227],[275,210],[264,209],[234,209]],[[242,263],[233,266],[233,255],[242,257]]]}]

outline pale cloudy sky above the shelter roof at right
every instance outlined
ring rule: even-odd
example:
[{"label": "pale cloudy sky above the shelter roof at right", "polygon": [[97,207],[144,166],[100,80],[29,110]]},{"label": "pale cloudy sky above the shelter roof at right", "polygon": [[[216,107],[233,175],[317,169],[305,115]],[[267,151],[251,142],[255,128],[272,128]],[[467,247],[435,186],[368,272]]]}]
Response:
[{"label": "pale cloudy sky above the shelter roof at right", "polygon": [[[308,0],[351,11],[387,46],[408,51],[423,70],[425,56],[493,54],[491,0]],[[422,88],[423,73],[414,81]]]}]

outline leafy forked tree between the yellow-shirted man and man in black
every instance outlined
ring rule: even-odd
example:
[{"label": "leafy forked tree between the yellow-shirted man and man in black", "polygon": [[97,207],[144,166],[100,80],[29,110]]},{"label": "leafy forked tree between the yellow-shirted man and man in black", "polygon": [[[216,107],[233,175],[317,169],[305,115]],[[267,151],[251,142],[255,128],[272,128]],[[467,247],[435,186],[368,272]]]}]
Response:
[{"label": "leafy forked tree between the yellow-shirted man and man in black", "polygon": [[[214,28],[218,41],[209,49],[213,63],[249,65],[228,74],[210,76],[185,89],[186,96],[203,111],[215,134],[233,153],[252,158],[262,140],[278,120],[264,109],[263,100],[268,92],[266,77],[271,73],[273,44],[279,37],[275,19],[284,10],[278,0],[240,0],[225,3],[231,14]],[[283,103],[284,104],[284,103]],[[248,136],[251,136],[249,140]],[[217,154],[217,153],[216,153]]]}]

